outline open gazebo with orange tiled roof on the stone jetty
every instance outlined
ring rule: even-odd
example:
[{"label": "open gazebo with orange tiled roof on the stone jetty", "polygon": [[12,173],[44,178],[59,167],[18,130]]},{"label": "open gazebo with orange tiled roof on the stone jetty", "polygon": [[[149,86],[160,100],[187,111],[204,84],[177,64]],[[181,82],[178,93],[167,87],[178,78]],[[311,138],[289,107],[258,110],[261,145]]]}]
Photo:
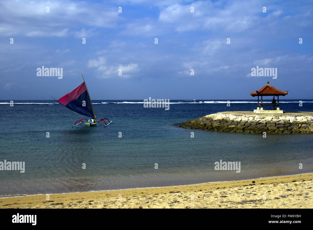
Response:
[{"label": "open gazebo with orange tiled roof on the stone jetty", "polygon": [[[258,96],[258,108],[254,110],[255,113],[283,113],[283,110],[279,109],[279,96],[285,96],[288,94],[288,91],[280,91],[276,89],[275,87],[271,86],[269,84],[269,81],[267,81],[267,84],[262,87],[259,90],[256,90],[255,92],[250,92],[250,95],[255,97]],[[259,103],[259,96],[261,96],[261,103]],[[273,96],[272,103],[263,103],[263,96]],[[275,96],[277,96],[277,103],[275,101]],[[272,105],[273,110],[263,110],[263,105]],[[275,110],[275,106],[277,106],[277,109]]]}]

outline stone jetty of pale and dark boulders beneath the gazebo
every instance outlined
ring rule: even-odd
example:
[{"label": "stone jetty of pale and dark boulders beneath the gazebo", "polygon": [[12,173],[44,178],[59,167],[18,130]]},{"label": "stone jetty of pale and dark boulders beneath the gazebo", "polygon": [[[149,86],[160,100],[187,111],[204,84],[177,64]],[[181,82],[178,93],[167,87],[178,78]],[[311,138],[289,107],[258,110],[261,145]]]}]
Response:
[{"label": "stone jetty of pale and dark boulders beneath the gazebo", "polygon": [[313,133],[313,112],[284,112],[283,114],[256,114],[250,111],[219,112],[177,126],[229,133]]}]

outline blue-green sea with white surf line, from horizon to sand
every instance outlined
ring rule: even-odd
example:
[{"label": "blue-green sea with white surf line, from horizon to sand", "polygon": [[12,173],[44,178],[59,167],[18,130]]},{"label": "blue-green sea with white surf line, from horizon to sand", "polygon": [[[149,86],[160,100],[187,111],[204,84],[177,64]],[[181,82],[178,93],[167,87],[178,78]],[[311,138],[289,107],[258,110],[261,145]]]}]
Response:
[{"label": "blue-green sea with white surf line, from horizon to sand", "polygon": [[[313,111],[313,99],[302,101],[299,106],[299,100],[280,100],[280,109]],[[25,172],[0,171],[0,197],[313,172],[312,134],[263,138],[263,134],[186,130],[174,125],[221,111],[252,111],[256,100],[231,100],[230,106],[226,100],[170,100],[169,110],[144,108],[143,100],[93,100],[97,119],[108,118],[112,124],[73,128],[84,116],[56,101],[13,102],[10,106],[9,100],[0,101],[0,161],[25,161]],[[215,170],[214,162],[220,160],[240,161],[240,173]]]}]

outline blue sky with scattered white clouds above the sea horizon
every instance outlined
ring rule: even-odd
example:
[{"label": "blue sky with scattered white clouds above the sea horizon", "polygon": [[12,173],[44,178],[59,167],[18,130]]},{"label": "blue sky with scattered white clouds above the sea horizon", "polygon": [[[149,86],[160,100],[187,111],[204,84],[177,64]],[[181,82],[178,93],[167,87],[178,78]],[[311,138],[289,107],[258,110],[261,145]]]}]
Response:
[{"label": "blue sky with scattered white clouds above the sea horizon", "polygon": [[312,1],[1,0],[0,100],[59,99],[81,73],[91,100],[255,99],[267,81],[312,99],[312,35]]}]

